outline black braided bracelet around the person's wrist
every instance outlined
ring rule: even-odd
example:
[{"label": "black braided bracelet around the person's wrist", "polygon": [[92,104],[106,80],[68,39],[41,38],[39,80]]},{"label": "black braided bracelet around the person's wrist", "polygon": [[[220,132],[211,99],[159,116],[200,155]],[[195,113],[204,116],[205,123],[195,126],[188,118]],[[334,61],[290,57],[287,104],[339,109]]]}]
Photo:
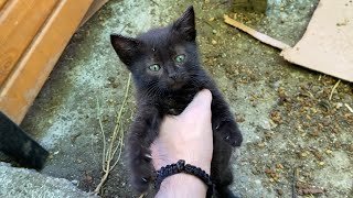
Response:
[{"label": "black braided bracelet around the person's wrist", "polygon": [[175,164],[163,166],[159,170],[157,170],[154,188],[159,190],[161,183],[165,177],[178,174],[178,173],[186,173],[186,174],[199,177],[208,187],[206,197],[207,198],[212,197],[214,191],[214,184],[212,183],[210,175],[205,170],[201,169],[200,167],[185,164],[185,161],[183,160],[178,161],[178,163]]}]

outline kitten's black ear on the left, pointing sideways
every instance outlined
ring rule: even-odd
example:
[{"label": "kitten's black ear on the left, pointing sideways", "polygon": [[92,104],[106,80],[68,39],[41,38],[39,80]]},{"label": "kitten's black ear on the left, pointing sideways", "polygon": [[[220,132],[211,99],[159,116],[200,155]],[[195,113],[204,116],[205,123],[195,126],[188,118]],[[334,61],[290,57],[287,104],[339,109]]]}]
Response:
[{"label": "kitten's black ear on the left, pointing sideways", "polygon": [[140,42],[132,37],[126,37],[119,34],[111,34],[110,43],[121,62],[125,65],[130,66],[139,52]]}]

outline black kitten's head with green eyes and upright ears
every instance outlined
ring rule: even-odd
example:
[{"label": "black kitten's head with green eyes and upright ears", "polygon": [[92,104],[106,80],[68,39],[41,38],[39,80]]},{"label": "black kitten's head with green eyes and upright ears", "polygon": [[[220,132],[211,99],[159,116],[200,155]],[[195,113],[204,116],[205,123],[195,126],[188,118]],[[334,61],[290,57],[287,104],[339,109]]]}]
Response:
[{"label": "black kitten's head with green eyes and upright ears", "polygon": [[169,26],[136,38],[110,35],[110,41],[139,88],[175,90],[194,80],[200,69],[195,37],[194,10],[190,7]]}]

